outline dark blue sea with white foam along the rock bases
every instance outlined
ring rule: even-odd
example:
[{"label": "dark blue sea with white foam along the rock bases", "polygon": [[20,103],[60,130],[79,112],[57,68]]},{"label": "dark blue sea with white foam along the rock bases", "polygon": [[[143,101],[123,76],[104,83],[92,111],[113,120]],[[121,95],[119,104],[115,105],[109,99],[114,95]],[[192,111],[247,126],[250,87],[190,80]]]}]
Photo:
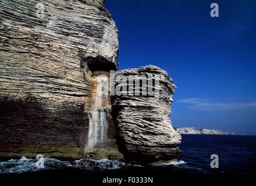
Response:
[{"label": "dark blue sea with white foam along the rock bases", "polygon": [[[0,174],[55,173],[105,173],[122,171],[131,173],[144,170],[165,174],[255,174],[256,137],[242,135],[182,135],[180,149],[184,155],[177,162],[160,163],[158,166],[129,164],[119,160],[82,159],[63,161],[44,159],[44,168],[36,167],[36,159],[22,157],[0,162]],[[219,157],[219,168],[212,169],[212,154]]]}]

